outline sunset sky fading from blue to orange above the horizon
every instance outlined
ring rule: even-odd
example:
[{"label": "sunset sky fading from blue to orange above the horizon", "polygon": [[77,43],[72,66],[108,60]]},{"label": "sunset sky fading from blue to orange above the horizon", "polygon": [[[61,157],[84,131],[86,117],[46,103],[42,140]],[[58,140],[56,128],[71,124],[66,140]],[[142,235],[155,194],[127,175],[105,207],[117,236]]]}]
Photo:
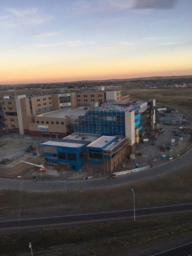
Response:
[{"label": "sunset sky fading from blue to orange above the horizon", "polygon": [[192,75],[191,0],[0,0],[0,84]]}]

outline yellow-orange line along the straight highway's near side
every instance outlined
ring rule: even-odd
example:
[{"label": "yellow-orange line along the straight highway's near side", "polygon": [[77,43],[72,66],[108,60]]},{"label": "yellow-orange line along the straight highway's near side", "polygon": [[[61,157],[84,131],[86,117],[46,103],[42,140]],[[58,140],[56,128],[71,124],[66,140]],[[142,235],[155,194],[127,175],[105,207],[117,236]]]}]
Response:
[{"label": "yellow-orange line along the straight highway's near side", "polygon": [[[163,215],[163,214],[165,215],[165,214],[183,213],[183,212],[192,212],[192,210],[190,210],[190,211],[182,211],[182,212],[168,212],[168,213],[159,213],[159,214],[139,215],[139,216],[136,216],[136,217],[147,217],[147,216],[155,216],[155,215]],[[128,218],[134,218],[134,216],[131,216],[131,217],[118,217],[118,218],[110,218],[110,219],[95,219],[95,220],[92,220],[92,221],[79,221],[79,222],[44,224],[44,225],[25,226],[25,227],[0,228],[0,230],[16,229],[16,228],[35,228],[35,227],[57,226],[57,225],[67,225],[67,224],[79,224],[79,223],[98,222],[98,221],[99,222],[101,222],[101,221],[112,221],[112,220],[115,220],[115,219],[128,219]]]}]

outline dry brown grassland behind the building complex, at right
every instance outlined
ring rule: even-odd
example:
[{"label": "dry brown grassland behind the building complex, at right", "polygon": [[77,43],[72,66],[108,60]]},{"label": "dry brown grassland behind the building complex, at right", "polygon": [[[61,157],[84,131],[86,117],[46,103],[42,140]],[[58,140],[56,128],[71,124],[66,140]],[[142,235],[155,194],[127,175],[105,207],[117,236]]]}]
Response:
[{"label": "dry brown grassland behind the building complex, at right", "polygon": [[192,113],[192,89],[123,89],[132,99],[156,99],[156,102],[176,106]]}]

